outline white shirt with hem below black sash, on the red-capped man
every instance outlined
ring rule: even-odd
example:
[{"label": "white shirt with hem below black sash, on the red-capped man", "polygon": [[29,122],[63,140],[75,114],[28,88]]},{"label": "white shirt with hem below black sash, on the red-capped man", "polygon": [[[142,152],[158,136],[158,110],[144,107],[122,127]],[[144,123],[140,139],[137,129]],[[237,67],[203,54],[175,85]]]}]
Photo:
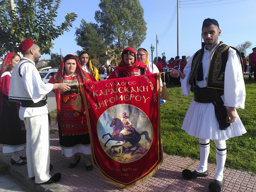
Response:
[{"label": "white shirt with hem below black sash, on the red-capped man", "polygon": [[[42,78],[35,67],[35,63],[28,59],[31,63],[24,63],[20,67],[20,74],[22,75],[22,82],[24,89],[32,99],[34,103],[39,102],[50,92],[54,84],[44,83]],[[17,90],[18,91],[18,90]],[[38,115],[48,114],[47,105],[42,107],[22,107],[20,106],[19,116],[21,120],[24,120],[25,117],[33,117]]]}]

